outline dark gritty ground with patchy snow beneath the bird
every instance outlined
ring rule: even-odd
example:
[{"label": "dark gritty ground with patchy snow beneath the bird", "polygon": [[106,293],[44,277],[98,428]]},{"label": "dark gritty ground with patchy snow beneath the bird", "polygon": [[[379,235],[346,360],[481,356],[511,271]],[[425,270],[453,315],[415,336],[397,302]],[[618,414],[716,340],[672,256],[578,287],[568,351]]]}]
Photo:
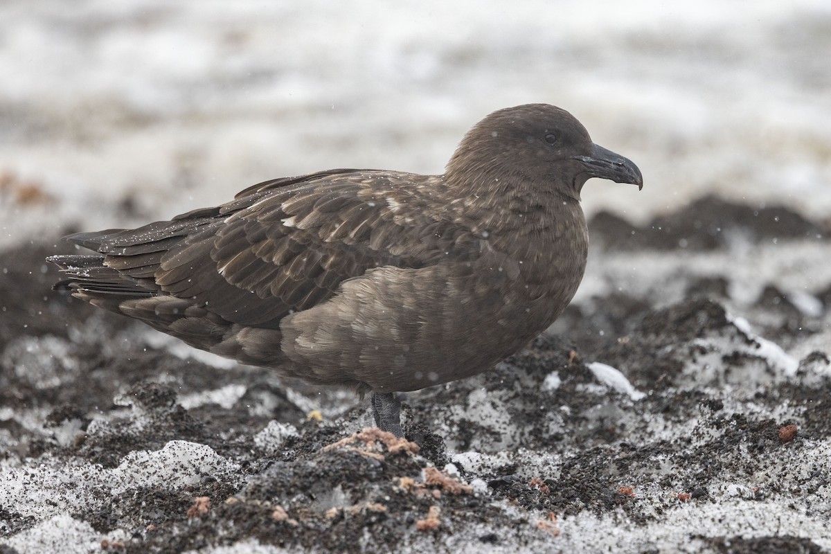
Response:
[{"label": "dark gritty ground with patchy snow beneath the bird", "polygon": [[[63,244],[4,252],[0,552],[828,552],[827,222],[710,197],[590,234],[588,292],[407,395],[406,439],[58,296]],[[802,277],[730,262],[771,252]]]}]

